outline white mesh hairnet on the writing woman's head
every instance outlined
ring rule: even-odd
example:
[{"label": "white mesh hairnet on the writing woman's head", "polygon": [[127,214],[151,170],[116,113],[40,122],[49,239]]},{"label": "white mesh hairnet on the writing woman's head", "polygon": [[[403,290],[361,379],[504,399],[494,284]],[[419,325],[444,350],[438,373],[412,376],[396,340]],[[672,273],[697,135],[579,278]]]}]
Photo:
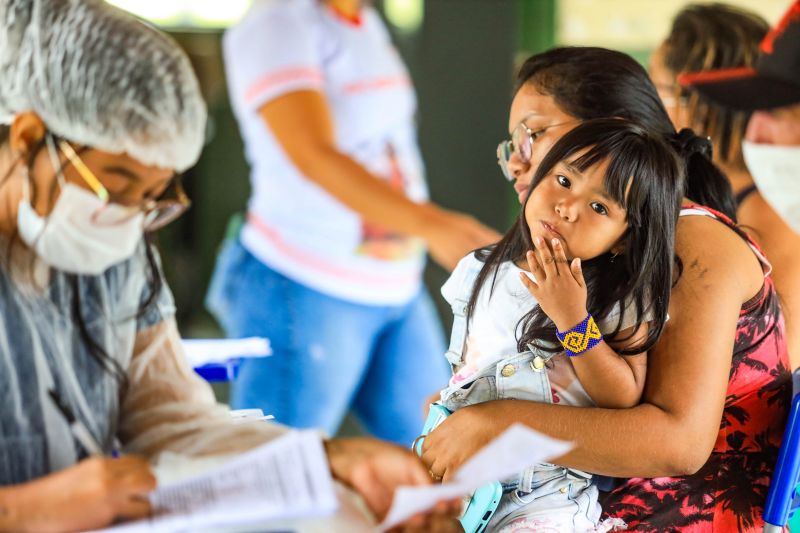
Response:
[{"label": "white mesh hairnet on the writing woman's head", "polygon": [[188,58],[102,0],[0,0],[0,114],[34,111],[66,139],[182,171],[206,110]]}]

